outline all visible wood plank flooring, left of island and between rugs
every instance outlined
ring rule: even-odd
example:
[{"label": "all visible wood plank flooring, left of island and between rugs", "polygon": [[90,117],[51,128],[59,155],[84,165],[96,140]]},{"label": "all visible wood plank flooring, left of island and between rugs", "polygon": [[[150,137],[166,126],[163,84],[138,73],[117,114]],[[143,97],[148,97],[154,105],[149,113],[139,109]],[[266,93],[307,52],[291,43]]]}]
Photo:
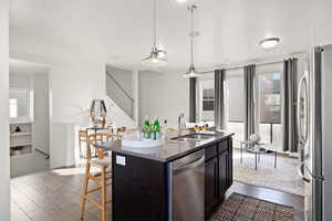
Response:
[{"label": "all visible wood plank flooring, left of island and between rugs", "polygon": [[[77,221],[83,169],[68,168],[33,173],[11,180],[11,221]],[[238,192],[292,206],[295,221],[303,220],[303,197],[235,182],[227,192]],[[108,191],[111,196],[111,189]],[[110,198],[108,196],[108,198]],[[98,193],[94,196],[98,198]],[[111,204],[107,212],[111,220]],[[86,221],[100,220],[100,210],[86,203]]]}]

